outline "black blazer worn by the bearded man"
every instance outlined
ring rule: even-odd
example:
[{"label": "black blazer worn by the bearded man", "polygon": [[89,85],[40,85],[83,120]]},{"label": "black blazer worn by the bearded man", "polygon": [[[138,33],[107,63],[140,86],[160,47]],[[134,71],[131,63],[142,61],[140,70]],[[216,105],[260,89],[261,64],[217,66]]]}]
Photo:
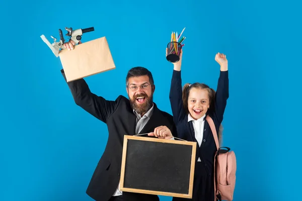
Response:
[{"label": "black blazer worn by the bearded man", "polygon": [[[61,73],[66,81],[63,69]],[[92,93],[84,79],[67,82],[75,104],[106,123],[109,136],[105,151],[92,175],[87,194],[97,201],[108,201],[119,184],[124,135],[135,135],[136,116],[129,99],[119,95],[116,100],[106,100]],[[173,117],[157,108],[140,132],[153,132],[158,126],[167,126],[174,137],[177,131]]]}]

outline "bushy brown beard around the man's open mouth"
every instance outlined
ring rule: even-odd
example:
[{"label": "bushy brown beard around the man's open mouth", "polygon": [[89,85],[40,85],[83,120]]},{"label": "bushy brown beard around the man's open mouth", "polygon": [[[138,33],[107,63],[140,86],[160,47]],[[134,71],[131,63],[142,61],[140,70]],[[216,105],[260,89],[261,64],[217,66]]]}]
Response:
[{"label": "bushy brown beard around the man's open mouth", "polygon": [[[136,103],[136,98],[140,97],[140,96],[144,96],[145,100],[143,104],[137,104]],[[129,95],[128,95],[129,97]],[[145,114],[146,112],[148,112],[148,110],[150,110],[150,108],[152,108],[153,106],[153,95],[151,95],[151,97],[149,97],[147,94],[145,93],[140,93],[140,94],[136,94],[133,99],[131,99],[129,97],[130,100],[130,105],[132,107],[132,109],[134,111],[136,111],[137,114],[141,115],[141,114]]]}]

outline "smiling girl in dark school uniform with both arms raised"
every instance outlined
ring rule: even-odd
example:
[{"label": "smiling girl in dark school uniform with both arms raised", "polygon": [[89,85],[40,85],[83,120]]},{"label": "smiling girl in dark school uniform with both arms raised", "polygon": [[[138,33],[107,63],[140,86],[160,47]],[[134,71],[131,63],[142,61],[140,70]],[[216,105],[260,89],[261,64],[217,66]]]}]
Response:
[{"label": "smiling girl in dark school uniform with both arms raised", "polygon": [[[194,201],[214,200],[214,154],[217,151],[213,134],[206,121],[212,118],[216,132],[223,119],[226,100],[229,97],[228,60],[224,54],[217,53],[215,61],[220,64],[217,91],[203,83],[185,84],[182,90],[181,61],[174,64],[170,89],[170,103],[178,137],[197,142],[195,172],[193,182]],[[192,72],[196,73],[196,72]],[[220,138],[220,134],[218,134]],[[189,200],[173,197],[176,200]]]}]

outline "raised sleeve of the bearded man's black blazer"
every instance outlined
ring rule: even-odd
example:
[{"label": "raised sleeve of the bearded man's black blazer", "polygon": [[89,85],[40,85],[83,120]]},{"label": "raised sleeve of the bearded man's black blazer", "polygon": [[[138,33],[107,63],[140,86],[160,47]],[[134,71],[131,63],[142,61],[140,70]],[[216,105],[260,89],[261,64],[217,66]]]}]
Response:
[{"label": "raised sleeve of the bearded man's black blazer", "polygon": [[[66,81],[64,70],[61,73]],[[67,82],[67,81],[66,81]],[[117,107],[118,100],[106,100],[105,98],[92,93],[84,79],[67,82],[75,104],[85,111],[107,123],[107,119]]]}]

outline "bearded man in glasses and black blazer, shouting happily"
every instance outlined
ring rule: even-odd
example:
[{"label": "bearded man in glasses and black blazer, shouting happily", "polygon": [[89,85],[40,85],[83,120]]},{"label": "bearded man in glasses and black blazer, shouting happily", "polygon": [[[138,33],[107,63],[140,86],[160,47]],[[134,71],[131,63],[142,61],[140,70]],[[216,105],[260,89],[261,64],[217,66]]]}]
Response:
[{"label": "bearded man in glasses and black blazer, shouting happily", "polygon": [[[68,50],[72,50],[73,45],[73,41],[64,44]],[[63,69],[61,73],[66,81]],[[155,84],[152,73],[143,67],[128,71],[126,90],[129,99],[119,95],[116,100],[106,100],[92,93],[84,79],[67,84],[75,104],[106,123],[109,131],[105,151],[91,178],[87,194],[97,201],[159,200],[157,195],[119,190],[124,135],[148,133],[148,136],[165,139],[173,139],[173,135],[177,135],[173,117],[159,110],[153,102]]]}]

